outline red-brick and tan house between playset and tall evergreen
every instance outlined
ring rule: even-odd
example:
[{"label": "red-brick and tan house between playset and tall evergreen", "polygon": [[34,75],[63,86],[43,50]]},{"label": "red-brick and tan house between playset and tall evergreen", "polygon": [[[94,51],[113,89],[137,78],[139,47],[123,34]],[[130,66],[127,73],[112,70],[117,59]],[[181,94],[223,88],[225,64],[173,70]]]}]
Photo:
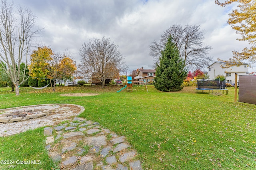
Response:
[{"label": "red-brick and tan house between playset and tall evergreen", "polygon": [[155,69],[144,69],[143,67],[138,69],[136,76],[134,77],[134,81],[140,81],[140,84],[143,82],[153,82],[156,77]]}]

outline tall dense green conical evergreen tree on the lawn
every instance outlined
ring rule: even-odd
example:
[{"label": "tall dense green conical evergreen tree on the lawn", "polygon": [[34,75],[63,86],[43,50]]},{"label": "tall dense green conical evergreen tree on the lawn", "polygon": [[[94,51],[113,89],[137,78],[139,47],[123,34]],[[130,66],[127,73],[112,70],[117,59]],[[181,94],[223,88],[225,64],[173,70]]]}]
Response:
[{"label": "tall dense green conical evergreen tree on the lawn", "polygon": [[172,37],[168,39],[159,60],[160,63],[156,64],[155,88],[163,92],[182,90],[181,85],[187,76],[187,71],[184,69],[184,60],[179,56],[178,49],[172,42]]}]

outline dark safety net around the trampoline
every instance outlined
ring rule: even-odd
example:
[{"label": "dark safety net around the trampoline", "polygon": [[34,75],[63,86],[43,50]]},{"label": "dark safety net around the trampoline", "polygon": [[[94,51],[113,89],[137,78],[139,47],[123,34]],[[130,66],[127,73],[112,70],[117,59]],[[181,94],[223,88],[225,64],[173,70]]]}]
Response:
[{"label": "dark safety net around the trampoline", "polygon": [[226,80],[197,80],[198,89],[226,89]]}]

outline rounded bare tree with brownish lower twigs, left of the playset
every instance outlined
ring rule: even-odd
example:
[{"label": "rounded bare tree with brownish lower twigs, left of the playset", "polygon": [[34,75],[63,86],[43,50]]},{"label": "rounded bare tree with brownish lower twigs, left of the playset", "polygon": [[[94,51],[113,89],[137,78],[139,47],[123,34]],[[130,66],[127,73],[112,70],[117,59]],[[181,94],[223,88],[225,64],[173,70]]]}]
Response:
[{"label": "rounded bare tree with brownish lower twigs, left of the playset", "polygon": [[126,69],[124,57],[120,53],[118,46],[110,41],[110,38],[94,38],[89,43],[84,43],[79,50],[81,64],[80,70],[84,74],[94,74],[102,87],[105,86],[105,80],[114,78],[116,72]]}]

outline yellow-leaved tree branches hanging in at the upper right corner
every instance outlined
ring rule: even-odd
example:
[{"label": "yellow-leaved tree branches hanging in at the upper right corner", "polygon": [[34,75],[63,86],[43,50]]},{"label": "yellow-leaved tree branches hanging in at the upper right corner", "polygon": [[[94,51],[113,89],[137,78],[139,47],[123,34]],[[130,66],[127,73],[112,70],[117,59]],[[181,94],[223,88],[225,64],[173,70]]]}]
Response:
[{"label": "yellow-leaved tree branches hanging in at the upper right corner", "polygon": [[238,2],[238,9],[232,10],[229,14],[228,24],[232,25],[236,33],[242,35],[238,40],[248,41],[251,47],[245,47],[242,52],[233,51],[234,56],[225,61],[228,63],[226,67],[239,65],[244,61],[256,62],[256,0],[228,0],[224,3],[215,0],[216,4],[223,7],[234,2]]}]

